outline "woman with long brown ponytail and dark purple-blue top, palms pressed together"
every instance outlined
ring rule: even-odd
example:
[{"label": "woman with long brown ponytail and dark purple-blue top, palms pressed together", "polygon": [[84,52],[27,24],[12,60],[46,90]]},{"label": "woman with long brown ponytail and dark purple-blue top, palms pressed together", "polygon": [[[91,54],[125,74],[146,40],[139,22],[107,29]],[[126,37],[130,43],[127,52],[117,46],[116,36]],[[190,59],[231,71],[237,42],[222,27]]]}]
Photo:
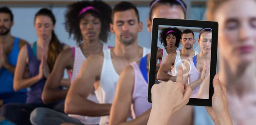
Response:
[{"label": "woman with long brown ponytail and dark purple-blue top, palms pressed together", "polygon": [[[1,108],[1,115],[17,125],[31,125],[29,117],[35,108],[45,107],[58,110],[59,104],[64,101],[44,104],[41,95],[50,73],[53,72],[58,55],[62,50],[70,47],[62,44],[55,35],[56,19],[51,10],[40,9],[35,14],[34,21],[38,40],[21,48],[13,85],[15,91],[30,88],[27,92],[26,104],[8,103]],[[26,67],[29,69],[29,78],[23,78]],[[61,77],[61,87],[58,86],[57,89],[62,89],[65,83],[66,81]],[[59,111],[64,112],[64,109]]]}]

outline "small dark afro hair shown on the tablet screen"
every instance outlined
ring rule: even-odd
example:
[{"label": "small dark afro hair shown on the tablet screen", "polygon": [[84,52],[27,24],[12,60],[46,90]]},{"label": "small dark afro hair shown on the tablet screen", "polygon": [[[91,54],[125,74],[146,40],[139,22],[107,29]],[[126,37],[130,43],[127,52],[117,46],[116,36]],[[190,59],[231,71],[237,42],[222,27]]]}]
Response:
[{"label": "small dark afro hair shown on the tablet screen", "polygon": [[[170,32],[170,33],[166,34],[168,31],[174,31],[175,33]],[[178,48],[180,46],[180,39],[181,39],[181,31],[178,28],[170,28],[169,27],[169,28],[161,29],[160,37],[159,37],[159,40],[160,40],[161,44],[163,44],[164,47],[167,47],[166,37],[169,34],[172,34],[172,35],[174,35],[176,37],[175,47]]]}]

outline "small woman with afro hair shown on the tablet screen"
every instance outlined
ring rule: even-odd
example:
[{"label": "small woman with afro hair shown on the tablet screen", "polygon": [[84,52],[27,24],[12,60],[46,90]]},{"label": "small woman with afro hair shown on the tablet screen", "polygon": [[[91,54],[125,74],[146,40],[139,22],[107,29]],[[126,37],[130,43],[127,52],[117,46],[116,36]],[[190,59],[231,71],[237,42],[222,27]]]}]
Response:
[{"label": "small woman with afro hair shown on the tablet screen", "polygon": [[[178,28],[163,28],[160,31],[159,40],[161,44],[164,46],[162,49],[163,57],[160,60],[160,64],[163,64],[166,57],[170,53],[175,53],[180,51],[178,47],[180,46],[180,39],[181,39],[181,31]],[[169,75],[172,75],[172,72],[168,72]]]}]

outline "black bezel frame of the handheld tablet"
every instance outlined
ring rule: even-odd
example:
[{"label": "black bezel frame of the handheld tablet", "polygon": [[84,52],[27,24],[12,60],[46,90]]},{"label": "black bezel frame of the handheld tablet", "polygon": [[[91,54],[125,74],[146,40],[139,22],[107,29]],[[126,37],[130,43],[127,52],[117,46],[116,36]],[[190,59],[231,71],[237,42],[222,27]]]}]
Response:
[{"label": "black bezel frame of the handheld tablet", "polygon": [[213,85],[212,81],[216,74],[217,51],[218,51],[218,22],[190,20],[190,19],[167,19],[154,18],[151,33],[151,55],[150,68],[148,77],[148,103],[151,100],[151,88],[155,83],[156,61],[157,61],[157,42],[158,42],[158,27],[159,25],[181,26],[181,27],[196,27],[196,28],[212,28],[212,50],[211,50],[211,67],[210,67],[210,85],[209,99],[190,98],[187,105],[190,106],[212,106]]}]

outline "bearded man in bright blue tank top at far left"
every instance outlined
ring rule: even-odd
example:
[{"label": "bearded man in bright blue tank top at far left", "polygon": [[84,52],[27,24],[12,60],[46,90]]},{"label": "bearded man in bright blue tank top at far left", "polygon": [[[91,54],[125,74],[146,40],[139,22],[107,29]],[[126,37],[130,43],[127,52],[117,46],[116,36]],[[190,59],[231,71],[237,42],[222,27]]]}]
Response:
[{"label": "bearded man in bright blue tank top at far left", "polygon": [[[23,39],[12,36],[14,24],[12,11],[8,7],[0,8],[0,100],[7,103],[26,103],[27,89],[17,92],[13,89],[13,78],[20,49],[28,44]],[[29,78],[26,69],[23,78]]]}]

